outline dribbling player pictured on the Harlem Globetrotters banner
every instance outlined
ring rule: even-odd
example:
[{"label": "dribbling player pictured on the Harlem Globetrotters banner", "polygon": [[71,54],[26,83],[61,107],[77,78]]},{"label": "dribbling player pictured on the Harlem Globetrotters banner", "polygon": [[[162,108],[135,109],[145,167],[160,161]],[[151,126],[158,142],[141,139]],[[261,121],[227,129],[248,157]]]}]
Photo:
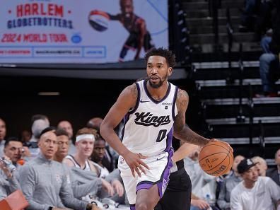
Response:
[{"label": "dribbling player pictured on the Harlem Globetrotters banner", "polygon": [[[119,54],[119,62],[124,62],[124,57],[127,55],[129,49],[136,50],[134,59],[139,59],[142,47],[144,47],[145,52],[154,47],[151,35],[146,29],[145,20],[136,16],[134,13],[133,0],[119,0],[119,6],[121,13],[116,15],[98,10],[91,11],[91,14],[104,16],[110,21],[119,21],[129,32],[129,37],[124,42]],[[96,30],[105,30],[101,25],[96,25],[94,21],[90,20],[90,23]]]}]

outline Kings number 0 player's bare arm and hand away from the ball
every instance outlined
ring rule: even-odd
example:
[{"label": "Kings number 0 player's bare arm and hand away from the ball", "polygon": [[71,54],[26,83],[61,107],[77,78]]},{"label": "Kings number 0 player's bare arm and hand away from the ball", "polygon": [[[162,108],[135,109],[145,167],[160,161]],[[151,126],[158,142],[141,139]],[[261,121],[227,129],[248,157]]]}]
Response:
[{"label": "Kings number 0 player's bare arm and hand away from the ball", "polygon": [[119,139],[114,129],[119,122],[122,121],[124,115],[126,115],[132,107],[135,107],[137,95],[138,92],[135,83],[124,88],[124,91],[122,91],[119,98],[117,98],[117,102],[112,105],[100,126],[101,136],[103,136],[105,141],[107,141],[107,143],[124,158],[127,165],[129,165],[129,168],[132,170],[133,176],[135,171],[139,176],[141,176],[140,170],[144,172],[144,168],[141,165],[148,168],[148,165],[141,161],[141,158],[146,157],[129,151],[129,149],[122,144],[122,141]]}]

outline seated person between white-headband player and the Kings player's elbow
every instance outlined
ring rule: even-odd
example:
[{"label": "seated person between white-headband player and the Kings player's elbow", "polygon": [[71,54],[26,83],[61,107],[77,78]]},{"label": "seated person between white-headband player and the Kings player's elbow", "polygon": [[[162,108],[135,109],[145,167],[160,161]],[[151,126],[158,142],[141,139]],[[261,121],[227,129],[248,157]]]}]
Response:
[{"label": "seated person between white-headband player and the Kings player's elbow", "polygon": [[109,175],[109,170],[103,165],[102,160],[105,155],[105,140],[98,136],[94,141],[93,153],[91,154],[91,161],[96,163],[100,168],[100,177],[104,178]]}]

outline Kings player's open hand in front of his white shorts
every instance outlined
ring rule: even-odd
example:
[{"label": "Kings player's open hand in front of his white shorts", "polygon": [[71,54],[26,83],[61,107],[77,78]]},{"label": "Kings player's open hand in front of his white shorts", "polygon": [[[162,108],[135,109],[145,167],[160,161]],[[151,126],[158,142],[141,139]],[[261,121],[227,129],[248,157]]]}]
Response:
[{"label": "Kings player's open hand in front of his white shorts", "polygon": [[124,157],[124,160],[127,162],[127,165],[129,165],[129,168],[132,171],[133,177],[135,177],[135,172],[139,175],[139,177],[141,177],[141,172],[146,174],[144,167],[150,169],[146,163],[141,161],[141,159],[146,158],[148,157],[132,152],[127,153],[127,155]]}]

